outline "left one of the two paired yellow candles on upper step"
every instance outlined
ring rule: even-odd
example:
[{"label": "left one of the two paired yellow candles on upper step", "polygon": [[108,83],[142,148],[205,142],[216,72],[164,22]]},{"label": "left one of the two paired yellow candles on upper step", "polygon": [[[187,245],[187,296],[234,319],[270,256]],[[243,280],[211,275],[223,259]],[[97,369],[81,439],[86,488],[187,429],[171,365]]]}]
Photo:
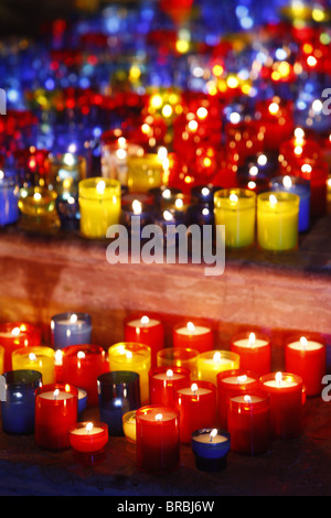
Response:
[{"label": "left one of the two paired yellow candles on upper step", "polygon": [[225,226],[225,246],[245,248],[255,242],[256,194],[246,188],[221,188],[214,194],[214,216]]}]

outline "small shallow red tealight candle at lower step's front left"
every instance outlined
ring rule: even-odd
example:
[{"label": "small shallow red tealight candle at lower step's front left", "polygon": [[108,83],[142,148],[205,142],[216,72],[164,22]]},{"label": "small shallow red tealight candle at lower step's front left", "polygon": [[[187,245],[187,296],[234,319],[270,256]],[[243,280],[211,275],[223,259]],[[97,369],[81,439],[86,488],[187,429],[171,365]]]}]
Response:
[{"label": "small shallow red tealight candle at lower step's front left", "polygon": [[70,445],[79,453],[102,452],[108,442],[108,427],[103,422],[81,422],[68,429]]}]

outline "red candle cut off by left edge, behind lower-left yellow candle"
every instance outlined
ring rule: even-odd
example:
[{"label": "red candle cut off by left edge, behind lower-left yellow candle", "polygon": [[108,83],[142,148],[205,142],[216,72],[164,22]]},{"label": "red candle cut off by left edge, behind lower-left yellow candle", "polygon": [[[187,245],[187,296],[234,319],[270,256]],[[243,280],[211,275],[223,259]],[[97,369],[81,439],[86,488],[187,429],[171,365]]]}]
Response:
[{"label": "red candle cut off by left edge, behind lower-left yellow candle", "polygon": [[11,355],[15,349],[41,344],[41,331],[28,322],[0,323],[0,345],[4,348],[3,371],[12,370]]}]

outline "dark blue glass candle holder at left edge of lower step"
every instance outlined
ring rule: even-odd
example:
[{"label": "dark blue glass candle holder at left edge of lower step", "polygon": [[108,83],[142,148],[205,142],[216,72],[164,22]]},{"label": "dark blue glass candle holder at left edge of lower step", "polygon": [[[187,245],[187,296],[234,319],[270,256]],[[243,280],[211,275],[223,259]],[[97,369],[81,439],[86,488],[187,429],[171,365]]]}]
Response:
[{"label": "dark blue glass candle holder at left edge of lower step", "polygon": [[3,374],[6,391],[1,398],[2,431],[28,435],[34,432],[35,390],[42,385],[42,375],[35,370],[10,370]]}]

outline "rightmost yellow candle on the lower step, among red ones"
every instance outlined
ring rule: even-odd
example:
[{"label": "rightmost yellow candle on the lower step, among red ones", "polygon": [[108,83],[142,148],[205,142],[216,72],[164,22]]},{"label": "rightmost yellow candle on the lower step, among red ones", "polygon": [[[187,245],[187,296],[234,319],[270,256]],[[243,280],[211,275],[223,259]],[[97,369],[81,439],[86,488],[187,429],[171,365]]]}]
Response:
[{"label": "rightmost yellow candle on the lower step, among red ones", "polygon": [[207,350],[200,354],[197,363],[197,379],[217,385],[217,374],[223,370],[238,369],[241,357],[231,350]]}]

